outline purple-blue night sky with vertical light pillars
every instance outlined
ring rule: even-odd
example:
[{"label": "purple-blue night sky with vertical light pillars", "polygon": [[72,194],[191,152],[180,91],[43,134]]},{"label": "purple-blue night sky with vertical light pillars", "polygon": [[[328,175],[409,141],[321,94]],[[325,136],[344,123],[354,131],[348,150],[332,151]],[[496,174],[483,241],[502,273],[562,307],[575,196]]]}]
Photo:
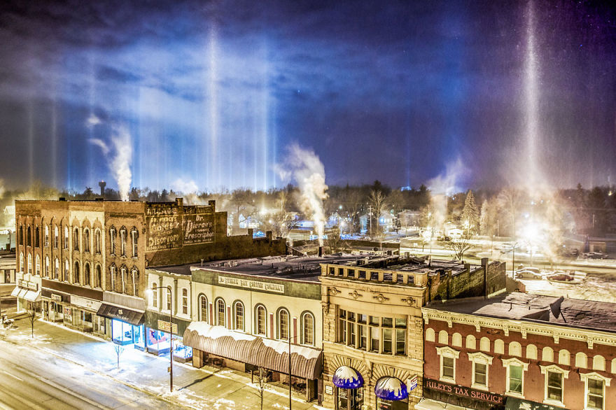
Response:
[{"label": "purple-blue night sky with vertical light pillars", "polygon": [[604,3],[134,3],[1,2],[6,187],[113,181],[102,145],[117,134],[132,185],[151,189],[281,186],[274,164],[294,142],[329,184],[418,187],[447,169],[459,188],[519,184],[529,169],[556,187],[615,183]]}]

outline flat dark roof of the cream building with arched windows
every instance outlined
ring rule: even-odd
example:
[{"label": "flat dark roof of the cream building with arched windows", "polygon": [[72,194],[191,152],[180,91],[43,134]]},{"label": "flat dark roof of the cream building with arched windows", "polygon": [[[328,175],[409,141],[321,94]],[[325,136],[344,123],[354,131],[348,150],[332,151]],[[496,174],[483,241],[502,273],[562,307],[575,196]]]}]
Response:
[{"label": "flat dark roof of the cream building with arched windows", "polygon": [[358,257],[361,258],[366,256],[368,255],[350,255],[343,253],[325,255],[322,257],[314,255],[279,255],[205,262],[203,264],[183,264],[171,267],[156,267],[153,269],[184,275],[190,275],[195,269],[208,269],[233,274],[318,282],[318,276],[321,276],[321,263],[355,262]]}]

